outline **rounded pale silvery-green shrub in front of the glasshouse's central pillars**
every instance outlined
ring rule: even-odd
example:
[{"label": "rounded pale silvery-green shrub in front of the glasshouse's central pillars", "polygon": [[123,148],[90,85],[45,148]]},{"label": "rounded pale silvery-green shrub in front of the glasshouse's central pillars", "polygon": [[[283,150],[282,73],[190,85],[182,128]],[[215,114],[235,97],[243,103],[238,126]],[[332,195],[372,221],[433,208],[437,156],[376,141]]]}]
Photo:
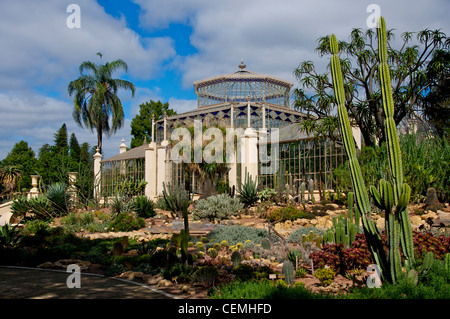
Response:
[{"label": "rounded pale silvery-green shrub in front of the glasshouse's central pillars", "polygon": [[192,217],[211,222],[229,219],[242,211],[244,205],[228,194],[218,194],[200,199],[195,203]]}]

